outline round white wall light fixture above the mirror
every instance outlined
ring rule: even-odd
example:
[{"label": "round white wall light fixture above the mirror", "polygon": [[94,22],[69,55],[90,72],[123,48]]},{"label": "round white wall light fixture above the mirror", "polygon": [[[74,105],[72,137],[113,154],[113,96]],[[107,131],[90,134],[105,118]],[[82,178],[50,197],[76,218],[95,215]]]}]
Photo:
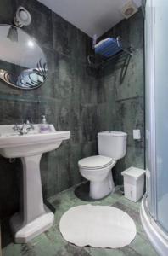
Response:
[{"label": "round white wall light fixture above the mirror", "polygon": [[28,26],[31,24],[31,15],[30,13],[22,6],[20,6],[14,17],[14,25],[15,26]]}]

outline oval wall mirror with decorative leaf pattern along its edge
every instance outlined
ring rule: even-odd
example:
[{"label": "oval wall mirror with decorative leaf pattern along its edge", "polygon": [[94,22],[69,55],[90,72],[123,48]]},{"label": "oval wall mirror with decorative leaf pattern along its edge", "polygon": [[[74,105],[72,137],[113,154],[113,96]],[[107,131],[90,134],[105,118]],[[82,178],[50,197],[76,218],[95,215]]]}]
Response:
[{"label": "oval wall mirror with decorative leaf pattern along its edge", "polygon": [[0,79],[19,89],[35,89],[47,78],[40,46],[16,26],[0,25]]}]

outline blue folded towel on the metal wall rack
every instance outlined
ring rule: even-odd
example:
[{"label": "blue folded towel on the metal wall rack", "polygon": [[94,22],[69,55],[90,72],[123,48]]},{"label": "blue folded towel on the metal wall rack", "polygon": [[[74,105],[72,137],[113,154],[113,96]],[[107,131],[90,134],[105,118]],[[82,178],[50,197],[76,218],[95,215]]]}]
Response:
[{"label": "blue folded towel on the metal wall rack", "polygon": [[96,44],[94,49],[96,54],[110,57],[118,53],[122,48],[121,43],[119,42],[118,44],[115,38],[106,38]]}]

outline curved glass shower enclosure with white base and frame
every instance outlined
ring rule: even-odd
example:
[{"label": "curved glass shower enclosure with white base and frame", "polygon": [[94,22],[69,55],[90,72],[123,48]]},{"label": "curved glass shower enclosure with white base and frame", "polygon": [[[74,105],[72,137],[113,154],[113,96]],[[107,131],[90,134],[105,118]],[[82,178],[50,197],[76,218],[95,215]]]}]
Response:
[{"label": "curved glass shower enclosure with white base and frame", "polygon": [[168,1],[145,5],[146,186],[141,220],[160,255],[168,255]]}]

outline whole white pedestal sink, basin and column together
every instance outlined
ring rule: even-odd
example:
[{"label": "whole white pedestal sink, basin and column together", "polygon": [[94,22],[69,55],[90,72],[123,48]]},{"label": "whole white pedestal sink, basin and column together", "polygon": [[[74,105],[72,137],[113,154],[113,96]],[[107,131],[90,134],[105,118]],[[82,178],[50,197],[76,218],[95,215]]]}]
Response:
[{"label": "whole white pedestal sink, basin and column together", "polygon": [[18,243],[30,241],[53,225],[53,212],[43,204],[40,160],[44,152],[59,148],[63,140],[70,138],[70,131],[55,131],[53,125],[49,125],[48,133],[40,133],[40,125],[33,126],[33,131],[19,135],[13,130],[14,125],[0,125],[0,154],[20,157],[23,164],[20,212],[10,220]]}]

